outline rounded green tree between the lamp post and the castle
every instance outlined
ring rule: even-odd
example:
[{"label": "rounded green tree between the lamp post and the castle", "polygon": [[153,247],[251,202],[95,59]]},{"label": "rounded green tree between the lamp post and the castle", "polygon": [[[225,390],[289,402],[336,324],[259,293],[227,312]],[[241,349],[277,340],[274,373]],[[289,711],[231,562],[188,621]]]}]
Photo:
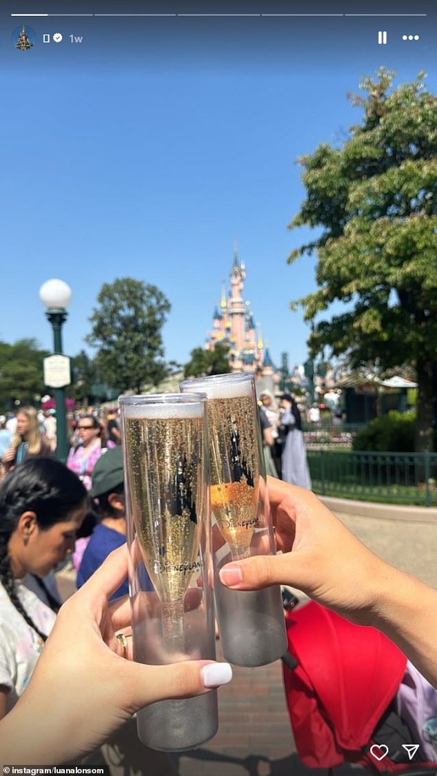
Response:
[{"label": "rounded green tree between the lamp post and the castle", "polygon": [[96,348],[95,367],[108,386],[140,392],[166,375],[161,329],[171,308],[163,293],[140,280],[103,283],[86,338]]}]

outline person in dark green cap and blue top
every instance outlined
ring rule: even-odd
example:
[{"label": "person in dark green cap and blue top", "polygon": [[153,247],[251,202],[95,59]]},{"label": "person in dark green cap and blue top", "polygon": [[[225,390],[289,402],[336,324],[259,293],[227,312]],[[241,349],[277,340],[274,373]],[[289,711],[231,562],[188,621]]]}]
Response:
[{"label": "person in dark green cap and blue top", "polygon": [[[126,542],[126,512],[123,484],[123,454],[121,447],[107,450],[96,462],[92,470],[92,487],[90,490],[98,523],[82,556],[76,580],[77,587],[91,577],[106,556]],[[148,580],[147,589],[153,590]],[[127,579],[113,593],[111,599],[129,594]]]}]

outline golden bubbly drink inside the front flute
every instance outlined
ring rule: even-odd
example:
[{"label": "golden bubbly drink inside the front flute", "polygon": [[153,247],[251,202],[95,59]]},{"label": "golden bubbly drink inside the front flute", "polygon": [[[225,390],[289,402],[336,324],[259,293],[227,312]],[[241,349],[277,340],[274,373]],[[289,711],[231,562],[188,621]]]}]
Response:
[{"label": "golden bubbly drink inside the front flute", "polygon": [[125,434],[137,539],[161,600],[165,642],[183,652],[184,597],[199,572],[202,419],[128,417]]}]

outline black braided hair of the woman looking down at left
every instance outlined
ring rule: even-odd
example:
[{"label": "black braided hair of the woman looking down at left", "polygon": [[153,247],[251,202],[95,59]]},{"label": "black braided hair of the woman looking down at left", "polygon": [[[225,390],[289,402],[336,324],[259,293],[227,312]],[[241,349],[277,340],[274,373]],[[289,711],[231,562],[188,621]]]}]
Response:
[{"label": "black braided hair of the woman looking down at left", "polygon": [[16,591],[9,561],[9,539],[23,512],[35,512],[38,527],[51,528],[67,520],[68,514],[81,507],[85,498],[86,490],[78,476],[51,458],[26,459],[6,476],[0,487],[0,582],[17,611],[43,641],[47,636],[27,614]]}]

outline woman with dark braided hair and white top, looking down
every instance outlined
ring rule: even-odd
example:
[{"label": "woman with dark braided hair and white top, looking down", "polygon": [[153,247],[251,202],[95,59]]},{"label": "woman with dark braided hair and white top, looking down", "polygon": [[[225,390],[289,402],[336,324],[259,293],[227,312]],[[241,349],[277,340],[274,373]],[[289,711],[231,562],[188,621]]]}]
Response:
[{"label": "woman with dark braided hair and white top, looking down", "polygon": [[0,719],[26,687],[56,617],[26,586],[26,576],[42,580],[73,552],[86,504],[85,487],[55,459],[28,459],[2,483]]}]

